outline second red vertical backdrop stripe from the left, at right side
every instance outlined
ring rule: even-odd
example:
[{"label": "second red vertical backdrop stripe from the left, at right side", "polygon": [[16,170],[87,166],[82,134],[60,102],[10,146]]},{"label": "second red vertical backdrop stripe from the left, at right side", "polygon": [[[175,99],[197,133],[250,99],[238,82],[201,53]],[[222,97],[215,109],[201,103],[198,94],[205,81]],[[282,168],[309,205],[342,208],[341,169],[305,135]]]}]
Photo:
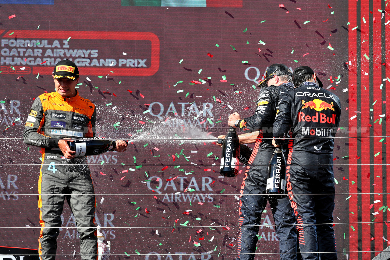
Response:
[{"label": "second red vertical backdrop stripe from the left, at right side", "polygon": [[[370,77],[372,77],[371,74],[365,75],[364,73],[370,72],[369,67],[369,60],[364,55],[367,55],[367,57],[370,56],[369,53],[369,22],[368,21],[368,14],[369,14],[369,2],[370,0],[363,0],[360,2],[360,29],[361,29],[361,47],[360,47],[360,64],[361,64],[361,70],[360,70],[360,76],[361,76],[361,84],[360,86],[357,86],[360,88],[360,124],[362,127],[367,126],[370,124]],[[363,17],[367,18],[366,23],[363,23]],[[362,43],[362,41],[366,40]],[[359,119],[359,116],[357,117]],[[361,164],[370,164],[370,156],[372,151],[370,152],[363,152],[367,150],[367,148],[370,147],[370,138],[365,138],[363,136],[370,136],[370,131],[367,131],[365,133],[362,132],[362,138],[360,139],[361,143],[361,150],[357,151],[359,156],[361,156],[361,159],[358,160],[358,163]],[[359,133],[357,133],[359,136]],[[365,147],[365,148],[364,148]],[[356,154],[354,154],[356,157]],[[371,251],[371,225],[367,225],[371,221],[371,210],[369,209],[369,206],[371,205],[371,196],[370,194],[364,194],[364,193],[370,193],[370,178],[367,178],[367,174],[370,172],[370,165],[362,165],[362,183],[361,189],[362,189],[362,203],[359,205],[362,210],[362,251],[363,255],[364,252]],[[371,175],[374,173],[371,173]],[[367,256],[369,258],[370,253],[367,253]]]}]

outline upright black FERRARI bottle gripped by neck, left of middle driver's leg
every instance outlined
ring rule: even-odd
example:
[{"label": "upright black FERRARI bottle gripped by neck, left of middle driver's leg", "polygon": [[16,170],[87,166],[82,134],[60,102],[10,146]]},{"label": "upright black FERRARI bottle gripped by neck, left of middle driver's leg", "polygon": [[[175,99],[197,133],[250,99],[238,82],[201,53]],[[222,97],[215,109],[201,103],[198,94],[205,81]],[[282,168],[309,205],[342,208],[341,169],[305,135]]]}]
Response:
[{"label": "upright black FERRARI bottle gripped by neck, left of middle driver's leg", "polygon": [[234,127],[230,127],[222,145],[221,175],[235,177],[238,174],[240,143]]}]

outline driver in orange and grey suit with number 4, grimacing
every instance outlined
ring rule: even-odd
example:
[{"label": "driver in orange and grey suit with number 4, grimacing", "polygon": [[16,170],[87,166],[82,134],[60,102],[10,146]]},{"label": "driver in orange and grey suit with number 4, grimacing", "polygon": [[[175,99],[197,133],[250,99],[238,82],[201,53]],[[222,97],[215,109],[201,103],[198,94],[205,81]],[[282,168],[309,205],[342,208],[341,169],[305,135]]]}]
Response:
[{"label": "driver in orange and grey suit with number 4, grimacing", "polygon": [[[42,148],[38,182],[39,255],[41,260],[55,259],[58,228],[66,199],[80,234],[81,258],[96,260],[94,186],[86,157],[75,157],[76,152],[68,145],[71,138],[95,136],[95,105],[79,96],[76,90],[80,79],[78,68],[70,60],[55,65],[53,79],[56,92],[35,98],[23,133],[27,145]],[[126,150],[124,141],[118,140],[116,145],[114,150]]]}]

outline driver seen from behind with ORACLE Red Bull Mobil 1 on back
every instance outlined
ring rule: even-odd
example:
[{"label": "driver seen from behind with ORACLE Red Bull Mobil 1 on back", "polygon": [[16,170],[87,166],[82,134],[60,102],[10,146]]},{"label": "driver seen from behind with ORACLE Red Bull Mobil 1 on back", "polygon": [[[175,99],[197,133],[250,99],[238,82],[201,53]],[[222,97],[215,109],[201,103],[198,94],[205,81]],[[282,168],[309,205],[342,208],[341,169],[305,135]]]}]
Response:
[{"label": "driver seen from behind with ORACLE Red Bull Mobil 1 on back", "polygon": [[340,99],[322,88],[310,67],[296,68],[293,83],[296,88],[282,94],[277,107],[273,144],[281,145],[292,127],[286,188],[297,219],[302,258],[337,259],[332,216],[333,146],[340,121]]}]

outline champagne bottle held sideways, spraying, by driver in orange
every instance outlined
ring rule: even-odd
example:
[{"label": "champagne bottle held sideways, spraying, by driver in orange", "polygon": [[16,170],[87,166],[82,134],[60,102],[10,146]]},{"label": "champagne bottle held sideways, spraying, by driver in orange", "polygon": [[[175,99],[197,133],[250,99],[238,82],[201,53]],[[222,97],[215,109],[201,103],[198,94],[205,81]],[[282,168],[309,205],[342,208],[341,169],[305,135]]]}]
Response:
[{"label": "champagne bottle held sideways, spraying, by driver in orange", "polygon": [[103,152],[117,147],[115,141],[102,137],[74,138],[72,140],[73,142],[68,142],[68,145],[72,151],[76,151],[75,157],[103,154]]}]

